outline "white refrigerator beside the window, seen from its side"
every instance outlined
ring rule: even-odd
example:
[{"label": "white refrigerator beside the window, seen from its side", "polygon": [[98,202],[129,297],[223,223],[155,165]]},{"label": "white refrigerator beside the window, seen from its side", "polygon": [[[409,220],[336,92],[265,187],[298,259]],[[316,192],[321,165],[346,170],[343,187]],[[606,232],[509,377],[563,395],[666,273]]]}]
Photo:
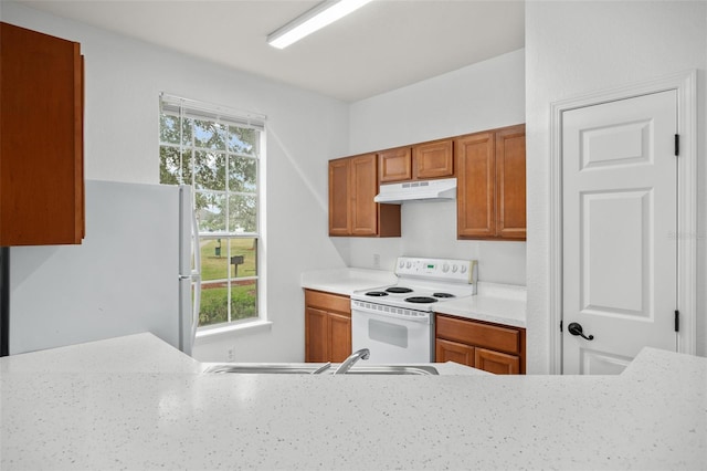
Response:
[{"label": "white refrigerator beside the window, seen from its side", "polygon": [[10,355],[141,332],[191,355],[200,293],[191,187],[86,180],[85,201],[81,245],[10,249]]}]

